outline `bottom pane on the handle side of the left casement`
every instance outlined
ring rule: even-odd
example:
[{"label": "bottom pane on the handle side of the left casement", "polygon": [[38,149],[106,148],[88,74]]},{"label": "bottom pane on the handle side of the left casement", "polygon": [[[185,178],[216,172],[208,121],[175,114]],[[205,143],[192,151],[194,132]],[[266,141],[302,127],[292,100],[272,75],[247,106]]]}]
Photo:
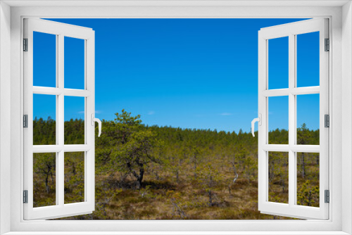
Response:
[{"label": "bottom pane on the handle side of the left casement", "polygon": [[84,154],[65,153],[65,203],[84,201]]}]

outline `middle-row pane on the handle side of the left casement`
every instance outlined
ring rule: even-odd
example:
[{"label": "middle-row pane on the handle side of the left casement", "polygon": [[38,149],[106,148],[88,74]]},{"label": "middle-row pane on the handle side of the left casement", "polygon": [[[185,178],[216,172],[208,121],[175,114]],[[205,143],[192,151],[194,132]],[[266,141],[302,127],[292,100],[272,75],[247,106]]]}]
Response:
[{"label": "middle-row pane on the handle side of the left casement", "polygon": [[65,96],[65,144],[84,144],[84,97]]}]

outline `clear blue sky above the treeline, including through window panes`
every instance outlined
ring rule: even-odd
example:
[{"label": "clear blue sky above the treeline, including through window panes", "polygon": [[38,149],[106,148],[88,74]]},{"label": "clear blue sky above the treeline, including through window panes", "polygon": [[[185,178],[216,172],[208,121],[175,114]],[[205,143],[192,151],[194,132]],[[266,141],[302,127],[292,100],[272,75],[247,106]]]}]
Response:
[{"label": "clear blue sky above the treeline, including through window panes", "polygon": [[[53,20],[53,19],[51,19]],[[55,19],[96,36],[96,118],[124,108],[147,125],[250,131],[258,113],[258,30],[301,19]],[[318,32],[298,35],[298,87],[319,85]],[[83,88],[80,39],[65,38],[65,87]],[[288,87],[288,39],[269,42],[269,88]],[[34,34],[34,85],[55,86],[55,37]],[[34,95],[34,116],[55,98]],[[270,129],[288,128],[287,97],[270,98]],[[298,97],[298,125],[319,128],[319,95]],[[65,99],[65,120],[83,118]],[[46,108],[43,108],[46,107]]]}]

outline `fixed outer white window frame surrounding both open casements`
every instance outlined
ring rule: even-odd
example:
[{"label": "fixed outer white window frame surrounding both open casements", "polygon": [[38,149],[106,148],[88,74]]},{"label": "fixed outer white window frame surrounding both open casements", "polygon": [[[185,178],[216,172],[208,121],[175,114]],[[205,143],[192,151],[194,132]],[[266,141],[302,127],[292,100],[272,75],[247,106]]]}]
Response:
[{"label": "fixed outer white window frame surrounding both open casements", "polygon": [[[97,8],[92,4],[101,7]],[[123,4],[130,6],[123,6]],[[158,4],[163,6],[157,6]],[[334,159],[329,162],[332,166],[332,171],[329,172],[331,179],[329,220],[24,221],[21,203],[23,183],[18,184],[18,182],[21,182],[23,172],[23,147],[21,147],[23,146],[21,127],[23,53],[20,49],[25,17],[329,18],[331,29],[329,38],[332,42],[330,45],[332,53],[329,53],[329,61],[331,61],[329,77],[332,78],[329,81],[329,104],[332,108],[329,133],[332,141],[330,141],[329,155],[332,156],[330,159]],[[111,48],[113,49],[113,45]],[[126,234],[127,232],[124,231],[134,231],[132,234],[144,234],[147,231],[149,234],[172,234],[172,231],[173,234],[175,231],[179,231],[177,234],[201,234],[202,231],[204,234],[241,234],[241,231],[246,231],[246,234],[292,234],[289,231],[296,231],[295,234],[352,234],[352,8],[350,1],[166,1],[164,3],[2,1],[0,3],[0,50],[1,234],[8,231],[11,231],[10,234],[30,234],[30,231],[38,231],[35,234],[40,234],[39,231],[45,231],[42,234],[54,234],[54,231],[62,231],[61,234],[75,234],[75,231],[81,231],[82,234],[86,234],[84,231],[89,231],[89,234],[99,234],[99,231],[115,231],[112,234]],[[11,133],[11,139],[8,139],[8,133]]]}]

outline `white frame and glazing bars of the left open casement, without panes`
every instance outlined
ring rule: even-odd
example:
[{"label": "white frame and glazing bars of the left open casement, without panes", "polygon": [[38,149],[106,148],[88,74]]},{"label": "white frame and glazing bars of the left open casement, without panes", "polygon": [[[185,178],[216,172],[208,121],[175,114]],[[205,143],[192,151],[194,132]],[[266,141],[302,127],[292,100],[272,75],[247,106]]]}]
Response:
[{"label": "white frame and glazing bars of the left open casement, without panes", "polygon": [[[42,32],[56,37],[56,87],[33,86],[33,32]],[[33,94],[46,94],[56,98],[56,144],[33,145],[33,122],[23,129],[24,141],[24,190],[28,191],[24,204],[25,220],[53,219],[69,215],[90,214],[95,208],[95,89],[94,89],[94,30],[42,19],[24,19],[24,35],[27,51],[24,58],[24,114],[33,120]],[[67,89],[64,86],[64,44],[65,37],[84,41],[84,89]],[[64,144],[65,97],[84,99],[84,144]],[[93,121],[93,122],[92,122]],[[93,124],[93,125],[92,125]],[[66,152],[84,152],[84,201],[64,202],[64,158]],[[33,153],[56,153],[56,203],[55,205],[33,207]]]}]

